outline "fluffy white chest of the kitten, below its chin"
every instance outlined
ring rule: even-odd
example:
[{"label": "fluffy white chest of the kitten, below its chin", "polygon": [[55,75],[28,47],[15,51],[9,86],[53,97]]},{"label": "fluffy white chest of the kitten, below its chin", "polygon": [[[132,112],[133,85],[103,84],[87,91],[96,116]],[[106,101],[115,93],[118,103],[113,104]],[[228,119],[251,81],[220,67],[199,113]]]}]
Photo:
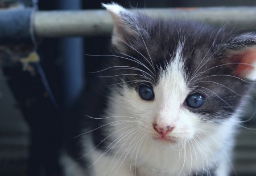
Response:
[{"label": "fluffy white chest of the kitten, below its chin", "polygon": [[211,150],[206,147],[197,149],[191,143],[183,147],[159,147],[150,140],[145,142],[145,146],[139,149],[137,161],[133,161],[137,163],[139,175],[188,176],[217,167],[217,150],[213,147]]}]

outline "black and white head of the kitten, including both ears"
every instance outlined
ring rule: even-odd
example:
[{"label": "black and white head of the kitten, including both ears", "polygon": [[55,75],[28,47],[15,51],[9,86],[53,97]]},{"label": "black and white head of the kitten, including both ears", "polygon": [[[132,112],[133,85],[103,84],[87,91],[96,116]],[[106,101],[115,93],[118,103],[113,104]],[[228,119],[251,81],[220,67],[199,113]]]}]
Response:
[{"label": "black and white head of the kitten, including both ears", "polygon": [[174,143],[236,123],[256,79],[254,33],[104,6],[114,21],[119,115],[139,119],[153,139]]}]

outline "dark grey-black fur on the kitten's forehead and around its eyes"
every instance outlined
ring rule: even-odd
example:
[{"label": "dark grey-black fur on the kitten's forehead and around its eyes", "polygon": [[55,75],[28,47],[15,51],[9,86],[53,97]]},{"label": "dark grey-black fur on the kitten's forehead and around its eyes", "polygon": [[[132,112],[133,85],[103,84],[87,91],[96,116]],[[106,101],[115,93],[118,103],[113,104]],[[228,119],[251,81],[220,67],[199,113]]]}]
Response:
[{"label": "dark grey-black fur on the kitten's forehead and around its eyes", "polygon": [[[123,57],[122,54],[119,54],[120,52],[130,55],[150,68],[153,73],[136,62],[118,57],[112,58],[113,65],[139,68],[150,74],[154,78],[151,84],[156,85],[159,81],[160,68],[164,70],[166,63],[172,62],[177,47],[183,43],[182,55],[187,80],[191,80],[197,68],[200,68],[197,72],[203,72],[196,79],[191,80],[189,84],[189,88],[192,89],[191,94],[199,92],[207,96],[207,102],[204,106],[190,110],[195,113],[207,114],[208,118],[206,120],[213,119],[216,121],[216,119],[229,117],[240,104],[241,98],[247,95],[251,83],[249,80],[242,80],[244,78],[233,77],[237,76],[234,74],[237,64],[225,65],[226,63],[234,62],[227,53],[230,50],[238,50],[238,48],[243,51],[247,47],[256,45],[255,38],[248,37],[247,40],[243,40],[243,36],[240,33],[196,22],[151,19],[142,14],[137,15],[139,15],[137,17],[137,25],[139,25],[139,28],[143,28],[144,31],[139,33],[138,36],[130,36],[130,33],[124,33],[126,44],[121,42],[118,46],[114,46],[114,55]],[[143,36],[144,33],[146,35]],[[133,46],[141,54],[127,44]],[[123,45],[122,50],[118,49],[120,45]],[[148,60],[150,55],[156,68],[155,71],[142,55],[146,56]],[[230,60],[228,61],[228,59]],[[205,70],[208,71],[204,72]],[[119,72],[113,70],[112,75],[118,74],[123,74],[123,76],[115,80],[117,83],[122,80],[129,81],[131,83],[129,85],[134,89],[137,89],[138,84],[133,84],[131,80],[144,79],[141,76],[137,76],[142,72],[134,70],[122,70]],[[129,74],[132,75],[130,76]],[[147,81],[146,79],[144,80]],[[145,82],[145,84],[147,83]],[[220,112],[223,112],[223,115],[220,115]]]}]

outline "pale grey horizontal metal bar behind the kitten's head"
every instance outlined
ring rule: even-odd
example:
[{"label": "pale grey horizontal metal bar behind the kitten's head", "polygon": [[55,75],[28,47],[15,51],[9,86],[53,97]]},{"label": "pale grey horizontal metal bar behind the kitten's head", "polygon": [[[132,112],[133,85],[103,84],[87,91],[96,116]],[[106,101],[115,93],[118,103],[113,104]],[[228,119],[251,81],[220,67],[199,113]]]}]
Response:
[{"label": "pale grey horizontal metal bar behind the kitten's head", "polygon": [[[166,19],[187,19],[256,31],[256,7],[149,8],[145,14]],[[38,11],[38,37],[97,36],[110,34],[113,21],[106,10]]]}]

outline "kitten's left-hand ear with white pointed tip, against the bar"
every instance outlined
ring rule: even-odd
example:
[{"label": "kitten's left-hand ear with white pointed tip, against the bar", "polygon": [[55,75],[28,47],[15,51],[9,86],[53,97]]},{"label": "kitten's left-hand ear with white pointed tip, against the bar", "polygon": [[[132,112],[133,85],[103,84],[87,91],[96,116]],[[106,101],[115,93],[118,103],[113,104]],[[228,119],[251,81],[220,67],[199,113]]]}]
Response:
[{"label": "kitten's left-hand ear with white pointed tip, against the bar", "polygon": [[102,6],[110,12],[113,18],[114,29],[112,35],[112,44],[119,51],[126,53],[130,41],[138,37],[146,37],[147,32],[139,22],[140,15],[130,12],[117,5],[116,3],[104,4]]}]

